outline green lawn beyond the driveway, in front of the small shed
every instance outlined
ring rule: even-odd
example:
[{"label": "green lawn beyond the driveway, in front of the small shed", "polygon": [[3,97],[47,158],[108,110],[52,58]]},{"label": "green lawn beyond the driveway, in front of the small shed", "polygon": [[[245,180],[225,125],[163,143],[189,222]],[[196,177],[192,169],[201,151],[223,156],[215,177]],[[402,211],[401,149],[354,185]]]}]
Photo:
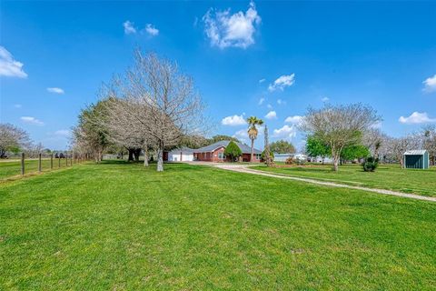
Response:
[{"label": "green lawn beyond the driveway, in front of the small shed", "polygon": [[339,172],[333,172],[332,166],[328,165],[257,166],[253,168],[290,176],[341,182],[353,186],[367,186],[423,196],[436,196],[436,167],[434,166],[431,169],[419,170],[401,169],[399,165],[381,165],[372,173],[364,172],[360,165],[343,165],[339,167]]}]

